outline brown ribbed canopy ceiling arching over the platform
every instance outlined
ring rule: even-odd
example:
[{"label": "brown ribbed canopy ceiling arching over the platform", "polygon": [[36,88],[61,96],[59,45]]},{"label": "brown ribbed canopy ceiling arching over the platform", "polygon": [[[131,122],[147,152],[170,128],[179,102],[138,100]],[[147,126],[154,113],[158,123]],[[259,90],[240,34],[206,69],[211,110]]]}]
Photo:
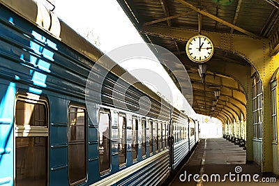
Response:
[{"label": "brown ribbed canopy ceiling arching over the platform", "polygon": [[[246,118],[246,90],[239,79],[234,77],[236,70],[243,77],[250,76],[250,63],[232,52],[216,49],[210,61],[206,62],[204,84],[199,77],[198,64],[186,56],[187,40],[179,31],[188,33],[217,32],[236,34],[250,38],[271,39],[278,31],[278,1],[259,0],[118,0],[136,29],[146,42],[169,49],[183,63],[193,86],[193,109],[198,114],[211,115],[223,123]],[[198,15],[201,15],[199,21]],[[189,38],[190,36],[188,36]],[[229,45],[230,41],[224,45]],[[227,43],[227,44],[226,44]],[[228,48],[226,46],[224,48]],[[155,50],[154,50],[155,51]],[[163,60],[163,54],[158,55]],[[174,69],[174,68],[172,68]],[[172,77],[179,75],[169,73]],[[175,79],[175,78],[173,78]],[[179,81],[178,81],[179,82]],[[174,81],[178,88],[181,84]],[[211,112],[214,91],[220,89],[217,107]],[[188,95],[185,95],[187,99]]]}]

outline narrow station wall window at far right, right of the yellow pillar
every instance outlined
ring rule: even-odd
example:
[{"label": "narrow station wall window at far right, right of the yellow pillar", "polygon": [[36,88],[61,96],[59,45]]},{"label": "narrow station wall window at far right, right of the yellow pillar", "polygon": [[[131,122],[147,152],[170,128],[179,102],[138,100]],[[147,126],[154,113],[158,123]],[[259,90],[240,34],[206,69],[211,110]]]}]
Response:
[{"label": "narrow station wall window at far right, right of the yellow pillar", "polygon": [[271,83],[271,119],[273,141],[278,141],[277,132],[277,109],[276,109],[276,81]]}]

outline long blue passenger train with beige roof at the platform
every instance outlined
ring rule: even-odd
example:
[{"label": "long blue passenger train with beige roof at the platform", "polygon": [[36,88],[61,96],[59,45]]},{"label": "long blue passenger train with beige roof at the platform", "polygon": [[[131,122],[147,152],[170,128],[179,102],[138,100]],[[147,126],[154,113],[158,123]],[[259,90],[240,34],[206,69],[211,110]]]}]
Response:
[{"label": "long blue passenger train with beige roof at the platform", "polygon": [[102,56],[37,1],[0,1],[0,185],[161,185],[195,148],[193,118]]}]

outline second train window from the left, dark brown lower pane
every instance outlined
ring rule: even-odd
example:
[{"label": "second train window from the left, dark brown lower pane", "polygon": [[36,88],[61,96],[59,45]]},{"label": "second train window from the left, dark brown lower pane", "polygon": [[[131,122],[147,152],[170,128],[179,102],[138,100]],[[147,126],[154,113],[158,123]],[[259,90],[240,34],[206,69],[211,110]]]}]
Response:
[{"label": "second train window from the left, dark brown lower pane", "polygon": [[70,105],[68,127],[68,173],[70,185],[86,180],[86,120],[87,116],[84,107]]}]

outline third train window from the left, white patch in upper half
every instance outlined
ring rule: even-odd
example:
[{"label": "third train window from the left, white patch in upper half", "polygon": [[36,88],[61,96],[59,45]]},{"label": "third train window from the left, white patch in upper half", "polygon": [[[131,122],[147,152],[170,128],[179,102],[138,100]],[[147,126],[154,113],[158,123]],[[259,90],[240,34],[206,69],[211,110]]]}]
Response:
[{"label": "third train window from the left, white patch in upper half", "polygon": [[100,112],[98,125],[99,171],[101,174],[110,171],[110,113]]}]

